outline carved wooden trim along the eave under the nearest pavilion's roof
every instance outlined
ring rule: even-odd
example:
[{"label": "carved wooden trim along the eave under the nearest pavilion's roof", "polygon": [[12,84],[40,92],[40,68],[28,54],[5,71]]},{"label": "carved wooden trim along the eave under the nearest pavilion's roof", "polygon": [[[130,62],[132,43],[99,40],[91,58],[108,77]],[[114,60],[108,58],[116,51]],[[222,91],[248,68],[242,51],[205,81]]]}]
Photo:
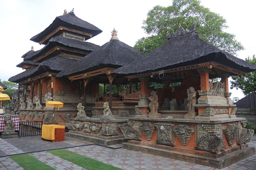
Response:
[{"label": "carved wooden trim along the eave under the nearest pavilion's roof", "polygon": [[[240,75],[240,76],[244,74],[244,72],[242,72],[242,71],[239,71],[239,70],[236,70],[236,69],[233,69],[228,66],[224,66],[222,64],[215,63],[215,62],[200,63],[200,64],[195,64],[195,65],[188,65],[188,66],[177,67],[177,68],[173,68],[173,69],[167,69],[167,70],[164,70],[164,74],[193,70],[193,69],[200,69],[200,68],[206,68],[206,69],[217,68],[217,69],[224,70],[224,71],[230,72],[232,74]],[[137,74],[137,75],[132,75],[132,76],[126,76],[126,77],[128,78],[128,80],[130,80],[133,78],[150,77],[151,75],[158,75],[158,71]]]}]

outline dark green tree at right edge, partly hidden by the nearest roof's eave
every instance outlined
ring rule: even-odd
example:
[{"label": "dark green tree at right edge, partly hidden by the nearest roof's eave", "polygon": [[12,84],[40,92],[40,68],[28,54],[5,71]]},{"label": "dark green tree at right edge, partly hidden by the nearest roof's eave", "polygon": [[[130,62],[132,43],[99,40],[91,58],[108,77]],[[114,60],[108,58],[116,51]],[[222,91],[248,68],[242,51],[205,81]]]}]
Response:
[{"label": "dark green tree at right edge, partly hidden by the nearest roof's eave", "polygon": [[[256,65],[256,56],[253,55],[252,58],[245,58],[246,61]],[[242,76],[231,76],[232,80],[230,88],[241,89],[244,95],[248,95],[251,92],[256,92],[256,71],[245,73]]]}]

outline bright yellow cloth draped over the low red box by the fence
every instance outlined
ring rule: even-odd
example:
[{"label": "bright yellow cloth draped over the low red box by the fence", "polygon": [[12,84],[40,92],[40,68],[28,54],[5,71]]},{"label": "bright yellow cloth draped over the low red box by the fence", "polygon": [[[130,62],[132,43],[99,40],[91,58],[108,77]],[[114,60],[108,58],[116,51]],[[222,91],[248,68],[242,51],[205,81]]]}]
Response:
[{"label": "bright yellow cloth draped over the low red box by the fence", "polygon": [[55,125],[55,124],[47,124],[42,126],[42,138],[47,140],[54,140],[54,131],[57,129],[65,129],[65,126]]}]

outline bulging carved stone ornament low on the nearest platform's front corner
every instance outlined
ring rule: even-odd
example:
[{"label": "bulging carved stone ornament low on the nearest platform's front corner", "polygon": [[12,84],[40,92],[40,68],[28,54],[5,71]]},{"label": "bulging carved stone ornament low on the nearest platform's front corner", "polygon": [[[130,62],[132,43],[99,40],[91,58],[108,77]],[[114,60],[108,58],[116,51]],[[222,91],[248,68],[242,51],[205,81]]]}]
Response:
[{"label": "bulging carved stone ornament low on the nearest platform's front corner", "polygon": [[205,135],[200,138],[196,145],[197,150],[209,151],[212,153],[219,153],[225,148],[226,146],[220,134]]}]

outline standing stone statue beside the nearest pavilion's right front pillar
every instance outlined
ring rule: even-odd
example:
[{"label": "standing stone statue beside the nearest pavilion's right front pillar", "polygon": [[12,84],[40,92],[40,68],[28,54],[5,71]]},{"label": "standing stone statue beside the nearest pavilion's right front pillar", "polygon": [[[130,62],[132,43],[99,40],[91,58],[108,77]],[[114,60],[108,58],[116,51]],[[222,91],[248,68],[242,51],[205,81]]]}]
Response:
[{"label": "standing stone statue beside the nearest pavilion's right front pillar", "polygon": [[188,113],[185,115],[185,119],[195,119],[196,117],[196,91],[194,87],[189,87],[188,92]]}]

